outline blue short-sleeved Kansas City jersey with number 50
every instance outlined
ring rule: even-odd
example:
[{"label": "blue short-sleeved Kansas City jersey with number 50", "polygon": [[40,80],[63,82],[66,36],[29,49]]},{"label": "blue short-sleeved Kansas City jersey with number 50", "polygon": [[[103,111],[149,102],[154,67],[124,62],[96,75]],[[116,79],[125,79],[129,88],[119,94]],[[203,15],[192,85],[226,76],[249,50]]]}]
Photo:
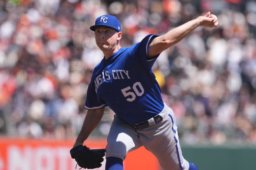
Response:
[{"label": "blue short-sleeved Kansas City jersey with number 50", "polygon": [[158,55],[147,60],[150,34],[129,48],[122,47],[95,67],[87,89],[86,109],[110,107],[129,124],[140,123],[164,109],[160,87],[152,72]]}]

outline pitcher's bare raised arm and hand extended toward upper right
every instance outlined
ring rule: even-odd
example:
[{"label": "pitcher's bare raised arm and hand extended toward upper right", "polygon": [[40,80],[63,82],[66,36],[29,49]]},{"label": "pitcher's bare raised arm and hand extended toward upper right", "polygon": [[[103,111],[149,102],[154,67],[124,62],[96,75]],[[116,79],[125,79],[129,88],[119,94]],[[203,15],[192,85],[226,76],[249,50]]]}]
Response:
[{"label": "pitcher's bare raised arm and hand extended toward upper right", "polygon": [[153,58],[156,55],[159,55],[165,49],[178,43],[198,26],[210,28],[216,27],[218,26],[217,17],[211,15],[211,12],[207,12],[204,16],[199,16],[196,19],[188,21],[187,23],[172,29],[162,36],[156,37],[149,44],[148,58]]}]

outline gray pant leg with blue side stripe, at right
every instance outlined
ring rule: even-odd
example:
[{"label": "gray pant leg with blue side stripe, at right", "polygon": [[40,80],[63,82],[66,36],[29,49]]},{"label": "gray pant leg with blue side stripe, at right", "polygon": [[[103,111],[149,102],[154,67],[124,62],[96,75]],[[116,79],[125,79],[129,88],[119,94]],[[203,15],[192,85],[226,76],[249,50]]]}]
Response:
[{"label": "gray pant leg with blue side stripe, at right", "polygon": [[188,170],[188,161],[182,156],[176,119],[172,110],[170,116],[168,115],[162,122],[138,132],[142,145],[156,156],[164,170]]}]

